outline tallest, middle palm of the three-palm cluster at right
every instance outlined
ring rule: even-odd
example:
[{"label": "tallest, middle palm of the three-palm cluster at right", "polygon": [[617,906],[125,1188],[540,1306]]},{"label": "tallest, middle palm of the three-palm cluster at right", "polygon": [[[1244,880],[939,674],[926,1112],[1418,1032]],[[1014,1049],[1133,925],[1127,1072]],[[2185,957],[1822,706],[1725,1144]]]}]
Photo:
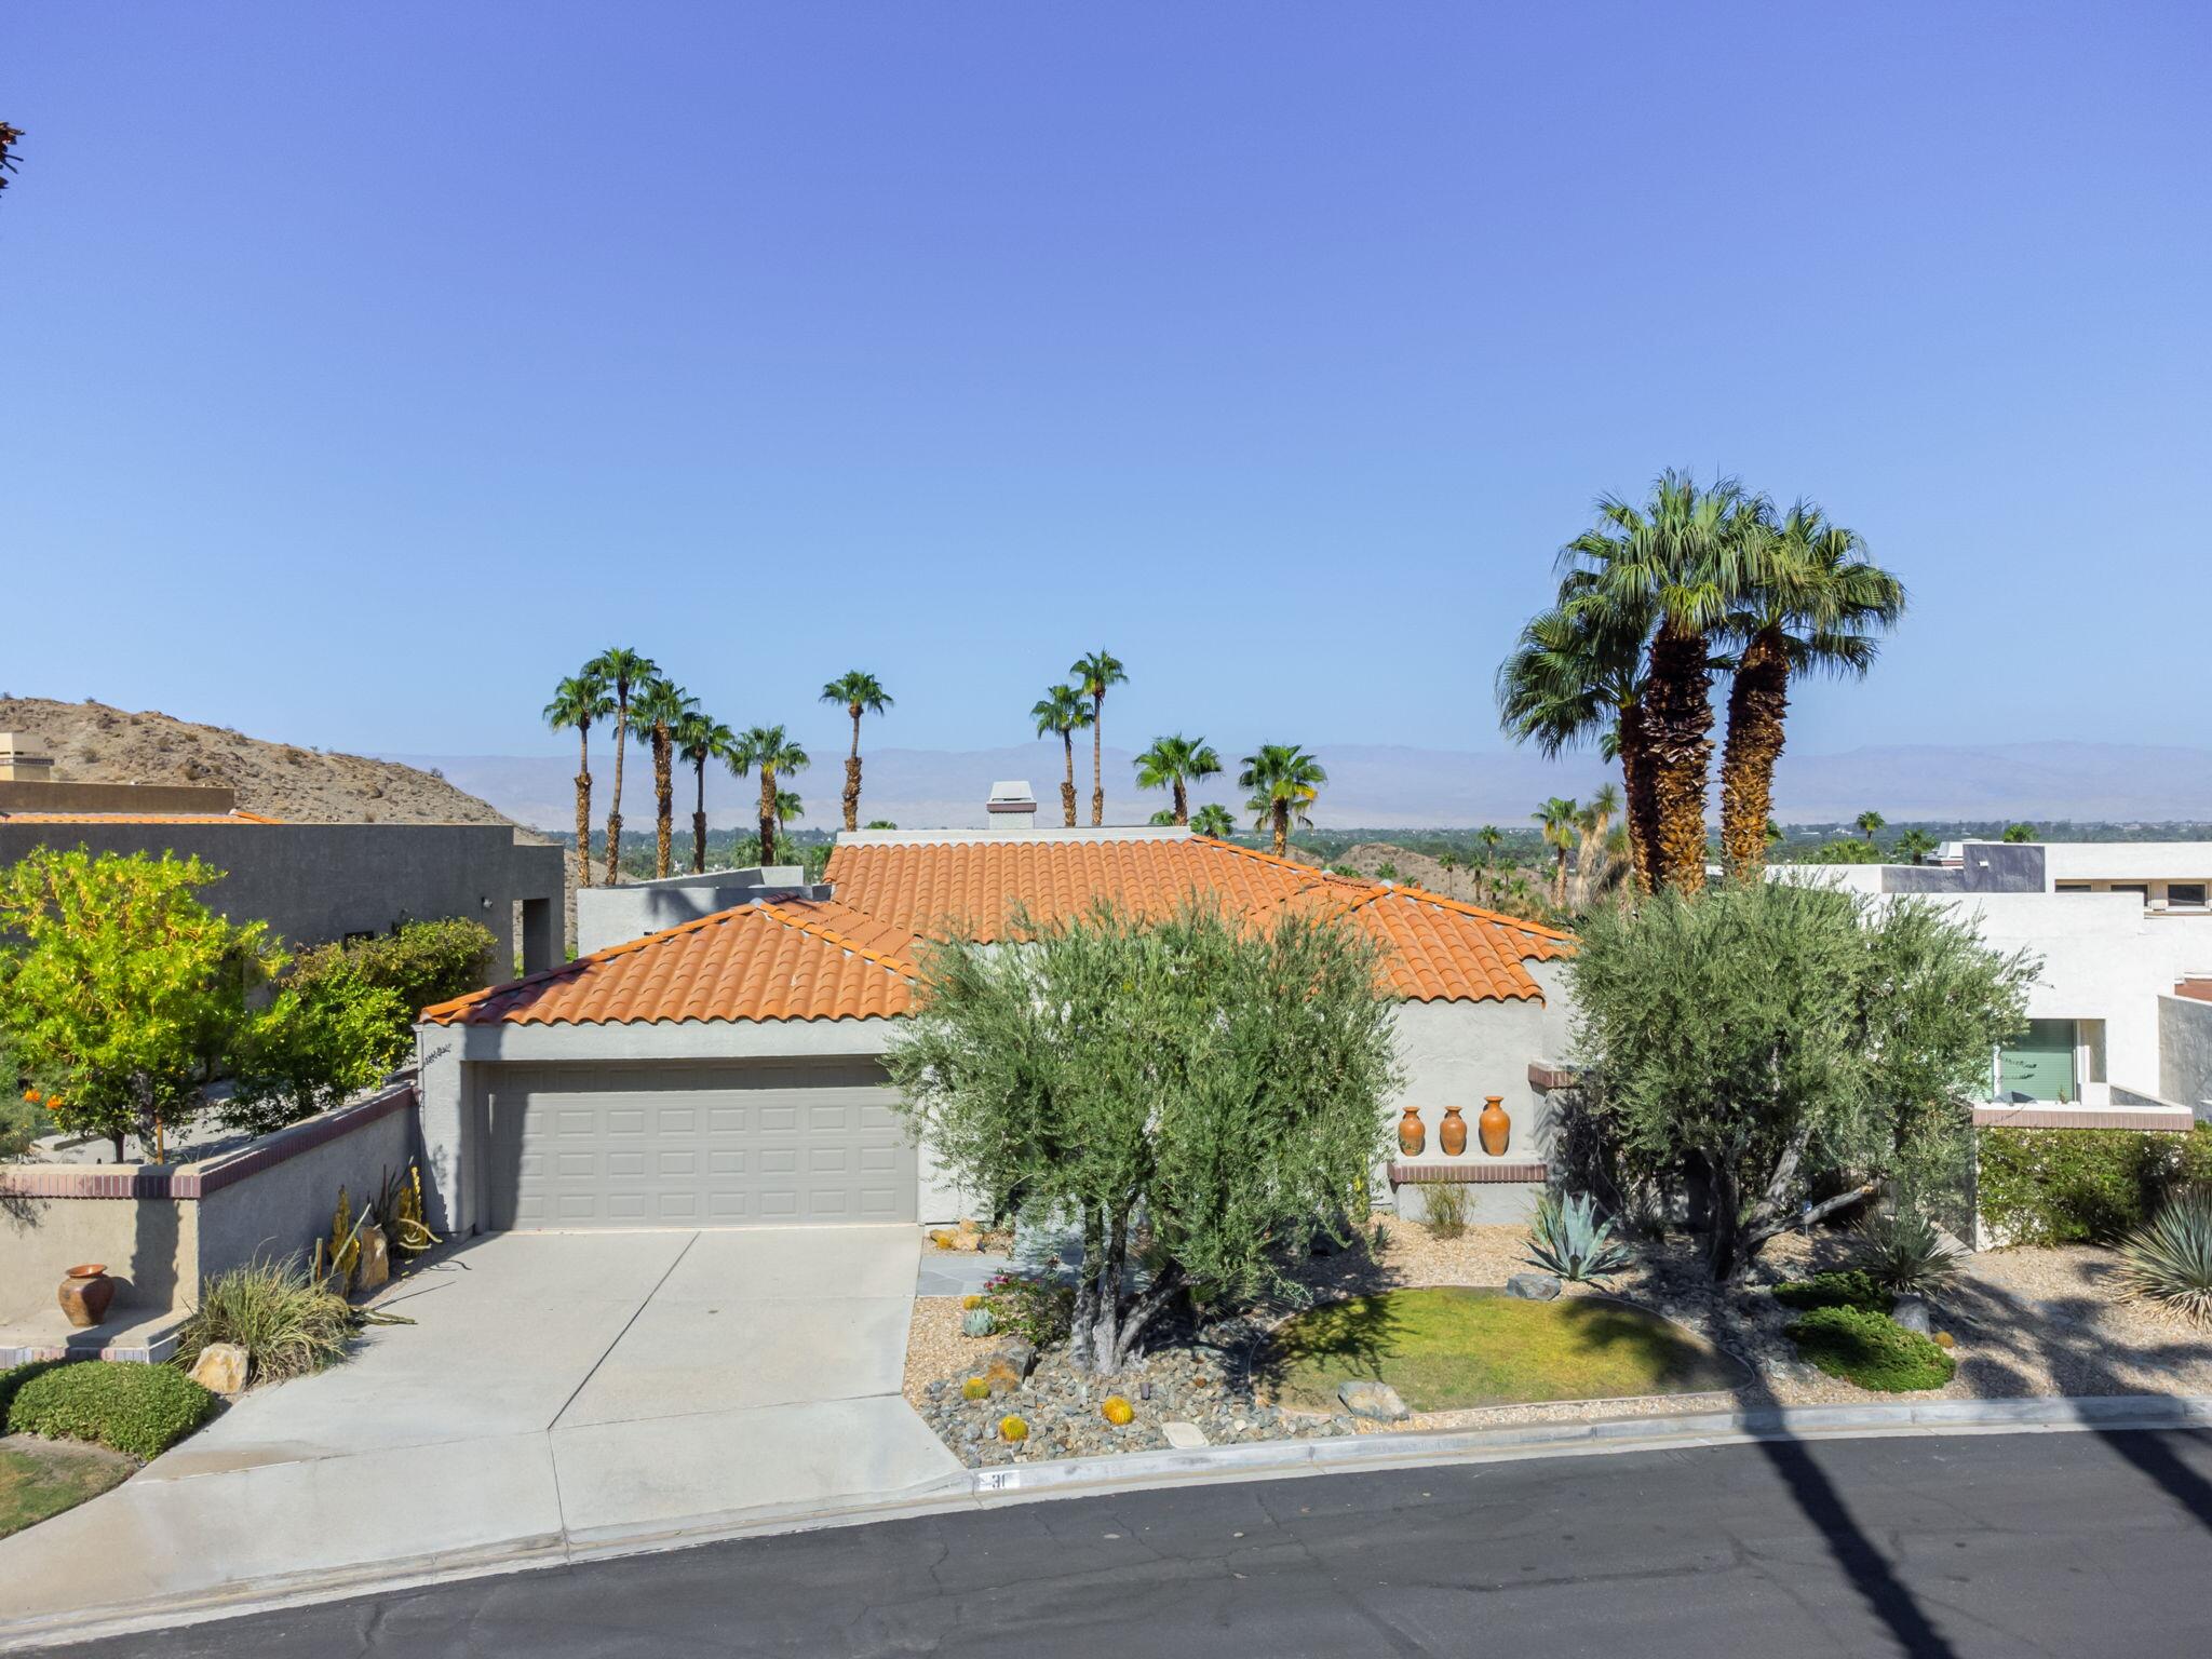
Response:
[{"label": "tallest, middle palm of the three-palm cluster at right", "polygon": [[1637,703],[1650,761],[1650,865],[1655,885],[1686,894],[1705,885],[1710,635],[1739,591],[1747,529],[1741,484],[1723,478],[1701,489],[1688,473],[1663,471],[1644,507],[1601,498],[1597,524],[1559,553],[1568,573],[1590,577],[1575,608],[1606,626],[1655,628]]}]

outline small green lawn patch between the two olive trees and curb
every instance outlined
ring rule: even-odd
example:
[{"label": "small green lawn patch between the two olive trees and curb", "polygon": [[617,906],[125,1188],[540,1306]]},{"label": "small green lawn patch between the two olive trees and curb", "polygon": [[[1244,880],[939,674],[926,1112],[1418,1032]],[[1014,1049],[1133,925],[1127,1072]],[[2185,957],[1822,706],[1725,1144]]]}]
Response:
[{"label": "small green lawn patch between the two olive trees and curb", "polygon": [[1416,1411],[1455,1411],[1730,1389],[1747,1371],[1628,1303],[1440,1287],[1298,1314],[1276,1332],[1263,1376],[1287,1407],[1334,1411],[1338,1383],[1374,1378]]}]

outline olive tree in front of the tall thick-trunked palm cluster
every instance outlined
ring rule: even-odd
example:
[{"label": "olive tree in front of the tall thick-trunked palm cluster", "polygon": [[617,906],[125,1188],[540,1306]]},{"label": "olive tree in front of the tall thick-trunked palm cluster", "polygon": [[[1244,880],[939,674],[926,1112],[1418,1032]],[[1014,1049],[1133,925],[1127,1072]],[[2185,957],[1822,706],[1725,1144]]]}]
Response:
[{"label": "olive tree in front of the tall thick-trunked palm cluster", "polygon": [[1584,1108],[1615,1168],[1681,1181],[1714,1279],[1790,1228],[1964,1152],[1964,1097],[2035,962],[1929,900],[1743,880],[1584,922]]}]

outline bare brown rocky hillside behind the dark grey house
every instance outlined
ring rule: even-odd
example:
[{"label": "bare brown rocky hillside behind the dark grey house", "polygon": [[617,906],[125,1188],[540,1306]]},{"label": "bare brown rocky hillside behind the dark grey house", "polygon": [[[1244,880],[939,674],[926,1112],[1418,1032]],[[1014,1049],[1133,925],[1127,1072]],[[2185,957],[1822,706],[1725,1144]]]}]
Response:
[{"label": "bare brown rocky hillside behind the dark grey house", "polygon": [[0,697],[0,732],[35,737],[64,783],[228,783],[246,812],[292,823],[511,823],[411,765],[263,743],[150,710]]}]

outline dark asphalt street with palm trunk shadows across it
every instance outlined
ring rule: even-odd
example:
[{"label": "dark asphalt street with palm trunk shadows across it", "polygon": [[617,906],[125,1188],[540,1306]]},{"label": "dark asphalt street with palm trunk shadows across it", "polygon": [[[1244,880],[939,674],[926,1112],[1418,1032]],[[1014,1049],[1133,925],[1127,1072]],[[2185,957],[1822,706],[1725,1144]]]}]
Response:
[{"label": "dark asphalt street with palm trunk shadows across it", "polygon": [[1009,1504],[62,1652],[2203,1655],[2212,1436],[1778,1442]]}]

